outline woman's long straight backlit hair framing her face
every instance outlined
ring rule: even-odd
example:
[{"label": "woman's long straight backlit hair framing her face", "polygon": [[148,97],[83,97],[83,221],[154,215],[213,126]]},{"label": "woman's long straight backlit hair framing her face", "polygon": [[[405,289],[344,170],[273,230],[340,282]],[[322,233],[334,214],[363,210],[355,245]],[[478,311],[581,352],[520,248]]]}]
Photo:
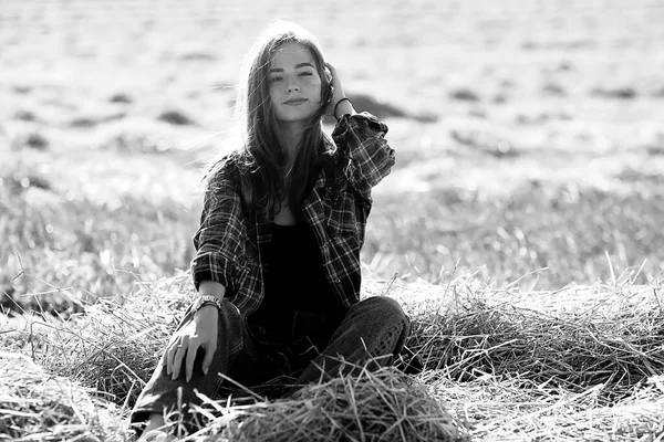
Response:
[{"label": "woman's long straight backlit hair framing her face", "polygon": [[[299,43],[307,48],[321,77],[321,107],[307,122],[292,161],[280,136],[269,82],[270,63],[287,43]],[[226,157],[226,160],[234,160],[239,167],[240,172],[236,178],[245,210],[256,210],[261,218],[271,219],[287,197],[295,213],[301,210],[304,192],[315,177],[317,166],[324,154],[322,117],[331,95],[331,77],[313,34],[291,22],[273,22],[245,57],[236,102],[241,143],[238,149]],[[217,161],[208,171],[208,188],[224,162]],[[292,169],[287,170],[289,164],[292,164]]]}]

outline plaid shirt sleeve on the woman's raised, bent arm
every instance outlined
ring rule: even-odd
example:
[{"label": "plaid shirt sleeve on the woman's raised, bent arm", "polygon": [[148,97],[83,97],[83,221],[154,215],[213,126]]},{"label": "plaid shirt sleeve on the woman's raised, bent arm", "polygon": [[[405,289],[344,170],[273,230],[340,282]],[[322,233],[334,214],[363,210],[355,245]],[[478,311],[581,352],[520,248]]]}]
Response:
[{"label": "plaid shirt sleeve on the woman's raised, bent arm", "polygon": [[384,138],[386,133],[387,126],[366,112],[343,115],[332,131],[336,148],[349,159],[347,180],[367,200],[371,200],[371,189],[394,166],[394,149]]}]

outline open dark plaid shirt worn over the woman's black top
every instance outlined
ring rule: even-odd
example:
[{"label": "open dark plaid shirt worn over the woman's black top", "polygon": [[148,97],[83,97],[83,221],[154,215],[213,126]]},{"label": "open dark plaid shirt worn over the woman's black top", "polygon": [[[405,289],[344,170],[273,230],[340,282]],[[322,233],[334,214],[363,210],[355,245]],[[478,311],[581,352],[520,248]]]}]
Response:
[{"label": "open dark plaid shirt worn over the woman's black top", "polygon": [[[328,282],[349,307],[360,301],[360,249],[372,206],[371,190],[394,165],[394,150],[383,136],[387,126],[375,116],[344,115],[325,137],[328,152],[311,193],[304,199],[304,221],[313,227]],[[242,210],[227,161],[204,199],[200,228],[194,236],[194,284],[216,281],[246,317],[263,298],[264,245],[271,224]]]}]

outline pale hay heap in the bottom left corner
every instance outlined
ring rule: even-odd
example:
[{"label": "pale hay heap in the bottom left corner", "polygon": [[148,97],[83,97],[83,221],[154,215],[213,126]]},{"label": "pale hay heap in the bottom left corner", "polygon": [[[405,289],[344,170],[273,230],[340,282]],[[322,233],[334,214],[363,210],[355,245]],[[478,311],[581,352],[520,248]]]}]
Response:
[{"label": "pale hay heap in the bottom left corner", "polygon": [[0,352],[0,440],[124,441],[121,413],[28,357]]}]

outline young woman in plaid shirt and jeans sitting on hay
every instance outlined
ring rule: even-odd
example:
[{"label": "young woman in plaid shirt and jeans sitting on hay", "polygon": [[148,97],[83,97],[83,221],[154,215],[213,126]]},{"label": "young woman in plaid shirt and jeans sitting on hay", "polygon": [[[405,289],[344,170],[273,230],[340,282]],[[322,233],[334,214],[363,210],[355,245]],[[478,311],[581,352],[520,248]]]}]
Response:
[{"label": "young woman in plaid shirt and jeans sitting on hay", "polygon": [[[191,263],[199,296],[134,408],[145,433],[174,409],[189,419],[195,389],[218,398],[239,383],[281,396],[353,365],[390,364],[408,335],[396,302],[360,301],[371,190],[394,165],[387,127],[355,113],[295,24],[271,27],[241,78],[242,143],[206,177]],[[338,119],[332,139],[325,114]]]}]

